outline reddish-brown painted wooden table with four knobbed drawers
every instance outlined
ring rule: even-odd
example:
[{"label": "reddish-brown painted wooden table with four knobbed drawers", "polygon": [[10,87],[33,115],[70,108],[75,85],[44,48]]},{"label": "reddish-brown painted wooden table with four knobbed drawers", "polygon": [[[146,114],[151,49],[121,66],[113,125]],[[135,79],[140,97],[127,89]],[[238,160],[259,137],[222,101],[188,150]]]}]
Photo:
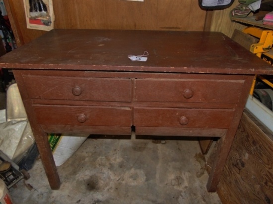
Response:
[{"label": "reddish-brown painted wooden table with four knobbed drawers", "polygon": [[[147,61],[128,55],[149,53]],[[47,133],[221,137],[217,188],[255,74],[269,64],[217,32],[52,30],[0,58],[13,70],[52,189]]]}]

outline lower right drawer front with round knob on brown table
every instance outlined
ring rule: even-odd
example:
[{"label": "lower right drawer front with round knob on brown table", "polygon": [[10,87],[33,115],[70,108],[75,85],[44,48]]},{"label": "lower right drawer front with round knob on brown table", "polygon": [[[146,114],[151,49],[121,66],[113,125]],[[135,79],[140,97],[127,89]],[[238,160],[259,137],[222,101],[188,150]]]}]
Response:
[{"label": "lower right drawer front with round knob on brown table", "polygon": [[229,128],[229,109],[135,108],[134,125],[144,127]]}]

